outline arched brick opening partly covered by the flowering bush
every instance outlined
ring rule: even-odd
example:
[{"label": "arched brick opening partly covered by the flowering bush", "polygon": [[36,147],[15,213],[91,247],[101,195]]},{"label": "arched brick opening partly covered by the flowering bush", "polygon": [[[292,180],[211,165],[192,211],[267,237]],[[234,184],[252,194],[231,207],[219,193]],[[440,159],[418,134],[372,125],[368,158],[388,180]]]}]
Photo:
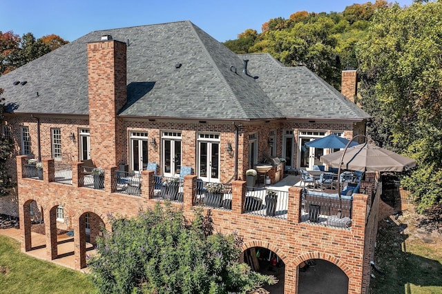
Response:
[{"label": "arched brick opening partly covered by the flowering bush", "polygon": [[[93,223],[90,223],[91,221]],[[86,226],[90,230],[88,237],[86,236]],[[82,208],[73,217],[75,268],[81,269],[87,266],[87,251],[94,249],[96,238],[100,235],[102,226],[106,229],[109,228],[108,218],[97,208]],[[91,242],[88,246],[86,246],[87,241]]]}]

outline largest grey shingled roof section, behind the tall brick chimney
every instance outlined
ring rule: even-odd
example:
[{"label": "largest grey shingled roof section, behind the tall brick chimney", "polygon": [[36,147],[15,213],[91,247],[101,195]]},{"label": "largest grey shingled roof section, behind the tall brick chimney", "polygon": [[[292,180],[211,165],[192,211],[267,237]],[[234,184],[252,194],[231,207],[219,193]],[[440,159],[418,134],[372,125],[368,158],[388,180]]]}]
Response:
[{"label": "largest grey shingled roof section, behind the tall brick chimney", "polygon": [[[282,117],[256,80],[242,73],[238,55],[190,21],[90,32],[0,77],[2,97],[17,113],[87,115],[86,44],[102,35],[128,42],[128,104],[122,116]],[[25,80],[24,86],[12,84]]]}]

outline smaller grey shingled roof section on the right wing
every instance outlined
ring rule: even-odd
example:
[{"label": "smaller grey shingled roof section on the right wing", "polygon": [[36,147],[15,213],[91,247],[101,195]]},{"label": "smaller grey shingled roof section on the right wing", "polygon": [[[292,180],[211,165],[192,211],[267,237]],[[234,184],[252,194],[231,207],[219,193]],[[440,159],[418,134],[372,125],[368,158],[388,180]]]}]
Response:
[{"label": "smaller grey shingled roof section on the right wing", "polygon": [[240,55],[258,84],[289,119],[348,119],[370,116],[305,66],[286,67],[269,54]]}]

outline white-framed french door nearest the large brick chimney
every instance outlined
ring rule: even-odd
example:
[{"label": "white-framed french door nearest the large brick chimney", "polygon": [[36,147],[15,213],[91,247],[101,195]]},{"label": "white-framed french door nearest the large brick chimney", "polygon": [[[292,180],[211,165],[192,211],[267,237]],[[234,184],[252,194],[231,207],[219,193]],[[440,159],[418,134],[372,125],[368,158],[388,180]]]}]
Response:
[{"label": "white-framed french door nearest the large brick chimney", "polygon": [[131,133],[131,170],[141,173],[146,170],[148,161],[148,138],[147,133]]}]

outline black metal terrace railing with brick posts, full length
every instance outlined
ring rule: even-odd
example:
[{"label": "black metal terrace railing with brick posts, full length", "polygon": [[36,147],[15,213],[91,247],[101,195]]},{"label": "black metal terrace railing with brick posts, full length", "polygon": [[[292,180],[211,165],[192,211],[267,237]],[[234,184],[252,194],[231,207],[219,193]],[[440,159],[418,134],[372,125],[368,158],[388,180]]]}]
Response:
[{"label": "black metal terrace railing with brick posts, full length", "polygon": [[[21,173],[23,178],[38,179],[37,162],[28,161],[21,157]],[[41,164],[41,162],[39,163]],[[220,193],[216,189],[209,188],[213,183],[197,180],[194,175],[188,175],[184,179],[153,175],[153,172],[127,173],[124,171],[91,168],[81,166],[79,163],[55,164],[50,159],[43,162],[44,184],[57,182],[73,184],[75,187],[86,187],[101,190],[106,193],[122,193],[134,195],[146,199],[170,199],[172,202],[184,203],[184,206],[203,206],[216,210],[227,210],[238,215],[256,215],[259,217],[271,217],[273,219],[291,219],[292,222],[305,222],[320,226],[337,226],[340,228],[352,227],[355,202],[353,199],[341,199],[327,197],[325,195],[302,195],[300,190],[288,192],[282,187],[259,187],[249,188],[244,182],[236,181],[232,184],[219,184],[222,186]],[[73,171],[77,175],[73,175]],[[73,183],[75,179],[75,183]],[[106,186],[106,183],[110,187]],[[31,183],[30,183],[31,184]],[[365,188],[374,185],[372,182],[364,182]],[[372,185],[372,186],[369,186]],[[378,189],[377,189],[378,190]],[[291,194],[292,193],[292,194]],[[298,194],[299,193],[299,194]],[[359,201],[356,208],[357,215],[364,214],[367,217],[367,205],[372,200],[372,190],[367,201]],[[362,199],[361,195],[358,199]],[[362,205],[363,206],[362,208]],[[337,219],[338,210],[342,212],[342,219]],[[299,210],[298,210],[299,209]],[[349,229],[350,229],[349,228]]]}]

